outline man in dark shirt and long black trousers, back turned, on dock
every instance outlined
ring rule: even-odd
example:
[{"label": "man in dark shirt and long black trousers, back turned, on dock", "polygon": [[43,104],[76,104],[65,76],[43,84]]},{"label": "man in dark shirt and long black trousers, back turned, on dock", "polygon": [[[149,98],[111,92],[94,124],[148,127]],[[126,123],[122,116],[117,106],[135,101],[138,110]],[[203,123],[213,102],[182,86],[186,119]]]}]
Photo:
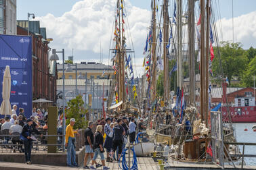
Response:
[{"label": "man in dark shirt and long black trousers, back turned, on dock", "polygon": [[[122,126],[122,119],[117,119],[117,125],[114,126],[114,138],[113,138],[113,152],[116,152],[116,148],[119,148],[119,156],[117,161],[119,161],[122,153],[123,146],[123,136],[125,135],[125,129]],[[113,157],[113,154],[112,154]]]}]

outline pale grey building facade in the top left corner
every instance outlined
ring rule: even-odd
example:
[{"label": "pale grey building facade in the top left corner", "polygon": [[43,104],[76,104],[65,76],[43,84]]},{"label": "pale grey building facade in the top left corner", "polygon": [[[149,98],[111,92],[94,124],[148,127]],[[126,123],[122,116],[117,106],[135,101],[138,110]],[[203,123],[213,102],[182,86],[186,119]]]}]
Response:
[{"label": "pale grey building facade in the top left corner", "polygon": [[16,0],[0,0],[0,34],[17,34]]}]

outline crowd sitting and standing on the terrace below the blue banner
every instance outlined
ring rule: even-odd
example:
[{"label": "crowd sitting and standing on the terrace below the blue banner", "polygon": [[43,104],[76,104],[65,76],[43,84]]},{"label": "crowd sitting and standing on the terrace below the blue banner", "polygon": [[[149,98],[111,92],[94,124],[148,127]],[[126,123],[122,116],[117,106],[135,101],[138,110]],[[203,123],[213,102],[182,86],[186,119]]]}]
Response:
[{"label": "crowd sitting and standing on the terrace below the blue banner", "polygon": [[[30,154],[33,135],[39,135],[40,138],[43,138],[43,134],[45,134],[48,128],[47,119],[47,110],[33,108],[32,115],[26,117],[23,108],[18,109],[17,105],[13,105],[12,115],[0,119],[1,134],[13,135],[12,138],[9,136],[5,137],[6,147],[8,147],[10,140],[12,140],[12,144],[18,143],[18,151],[24,152],[26,163],[31,164]],[[22,144],[24,148],[22,148]],[[16,147],[11,148],[16,152]]]}]

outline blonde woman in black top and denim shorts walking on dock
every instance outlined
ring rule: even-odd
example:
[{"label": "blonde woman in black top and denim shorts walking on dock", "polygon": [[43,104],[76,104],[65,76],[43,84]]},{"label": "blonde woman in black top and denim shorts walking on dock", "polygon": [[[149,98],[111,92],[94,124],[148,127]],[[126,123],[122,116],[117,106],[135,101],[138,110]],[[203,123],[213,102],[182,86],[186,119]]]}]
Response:
[{"label": "blonde woman in black top and denim shorts walking on dock", "polygon": [[96,132],[93,139],[93,150],[94,150],[94,156],[92,159],[91,167],[90,169],[96,169],[93,167],[94,163],[96,163],[96,159],[98,157],[98,154],[100,154],[100,158],[103,165],[103,170],[110,169],[109,167],[106,167],[105,165],[105,158],[104,158],[104,148],[103,148],[103,136],[102,136],[102,125],[98,125],[96,128]]}]

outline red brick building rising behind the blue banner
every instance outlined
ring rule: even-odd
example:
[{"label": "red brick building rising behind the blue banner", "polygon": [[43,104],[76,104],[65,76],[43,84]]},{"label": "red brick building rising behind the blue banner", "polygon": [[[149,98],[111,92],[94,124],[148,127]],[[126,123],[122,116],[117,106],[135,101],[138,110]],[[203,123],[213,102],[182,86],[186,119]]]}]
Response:
[{"label": "red brick building rising behind the blue banner", "polygon": [[[27,21],[17,21],[17,34],[27,35]],[[57,72],[50,74],[49,41],[46,40],[45,28],[40,28],[39,21],[29,22],[30,35],[33,37],[33,101],[39,98],[56,104]]]}]

